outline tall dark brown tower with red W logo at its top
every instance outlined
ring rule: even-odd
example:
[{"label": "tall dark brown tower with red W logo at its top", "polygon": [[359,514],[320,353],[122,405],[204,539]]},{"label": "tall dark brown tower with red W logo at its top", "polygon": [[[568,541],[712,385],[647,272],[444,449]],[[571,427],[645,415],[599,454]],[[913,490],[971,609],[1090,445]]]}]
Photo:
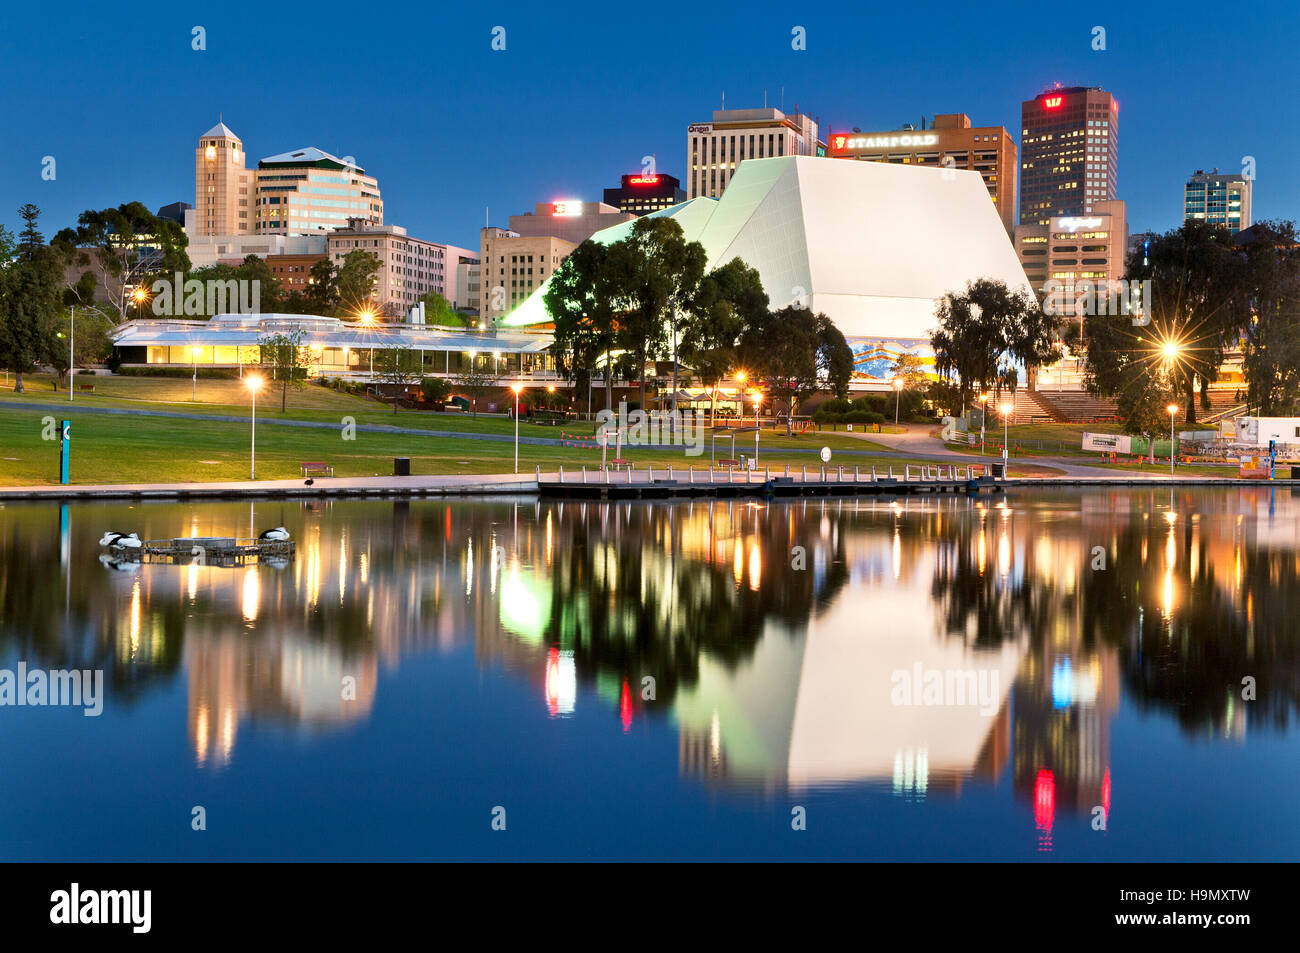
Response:
[{"label": "tall dark brown tower with red W logo at its top", "polygon": [[1117,198],[1119,103],[1096,86],[1020,104],[1020,225],[1082,216]]}]

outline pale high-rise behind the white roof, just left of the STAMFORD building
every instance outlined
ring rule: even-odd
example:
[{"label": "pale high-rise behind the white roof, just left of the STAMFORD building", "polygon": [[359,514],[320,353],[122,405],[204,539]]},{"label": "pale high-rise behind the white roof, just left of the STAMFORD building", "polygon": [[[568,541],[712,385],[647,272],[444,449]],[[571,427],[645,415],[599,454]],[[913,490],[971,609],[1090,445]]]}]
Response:
[{"label": "pale high-rise behind the white roof, just left of the STAMFORD building", "polygon": [[686,126],[686,196],[718,198],[746,159],[818,156],[816,120],[780,109],[715,109],[712,122]]}]

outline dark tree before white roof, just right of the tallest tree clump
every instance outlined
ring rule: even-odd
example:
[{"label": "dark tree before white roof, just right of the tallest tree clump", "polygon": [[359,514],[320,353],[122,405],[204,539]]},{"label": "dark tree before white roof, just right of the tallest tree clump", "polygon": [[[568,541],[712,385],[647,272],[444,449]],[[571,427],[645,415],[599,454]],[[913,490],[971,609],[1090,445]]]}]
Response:
[{"label": "dark tree before white roof, just right of the tallest tree clump", "polygon": [[677,350],[708,387],[710,424],[718,384],[736,365],[741,335],[767,317],[767,304],[758,270],[741,259],[715,268],[699,282],[681,324]]}]

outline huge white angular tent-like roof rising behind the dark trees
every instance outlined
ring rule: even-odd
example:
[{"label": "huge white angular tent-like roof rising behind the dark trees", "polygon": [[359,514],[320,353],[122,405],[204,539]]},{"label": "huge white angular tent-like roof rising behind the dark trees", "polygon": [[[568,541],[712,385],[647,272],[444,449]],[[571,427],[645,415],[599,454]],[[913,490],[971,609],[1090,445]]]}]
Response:
[{"label": "huge white angular tent-like roof rising behind the dark trees", "polygon": [[[741,257],[758,269],[771,306],[801,300],[848,338],[920,341],[935,299],[975,278],[1030,290],[1010,237],[978,172],[846,159],[779,156],[740,164],[716,202],[664,212],[698,241],[708,268]],[[630,224],[593,238],[623,238]],[[507,316],[547,321],[545,285]]]}]

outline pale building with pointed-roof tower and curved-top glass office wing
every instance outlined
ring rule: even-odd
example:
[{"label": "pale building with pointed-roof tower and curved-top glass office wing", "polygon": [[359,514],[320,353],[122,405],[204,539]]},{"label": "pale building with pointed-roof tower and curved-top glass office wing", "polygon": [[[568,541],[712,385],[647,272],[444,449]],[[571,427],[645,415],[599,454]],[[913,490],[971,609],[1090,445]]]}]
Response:
[{"label": "pale building with pointed-roof tower and curved-top glass office wing", "polygon": [[247,166],[243,142],[218,122],[195,150],[194,235],[321,235],[361,218],[384,224],[378,182],[318,148]]}]

